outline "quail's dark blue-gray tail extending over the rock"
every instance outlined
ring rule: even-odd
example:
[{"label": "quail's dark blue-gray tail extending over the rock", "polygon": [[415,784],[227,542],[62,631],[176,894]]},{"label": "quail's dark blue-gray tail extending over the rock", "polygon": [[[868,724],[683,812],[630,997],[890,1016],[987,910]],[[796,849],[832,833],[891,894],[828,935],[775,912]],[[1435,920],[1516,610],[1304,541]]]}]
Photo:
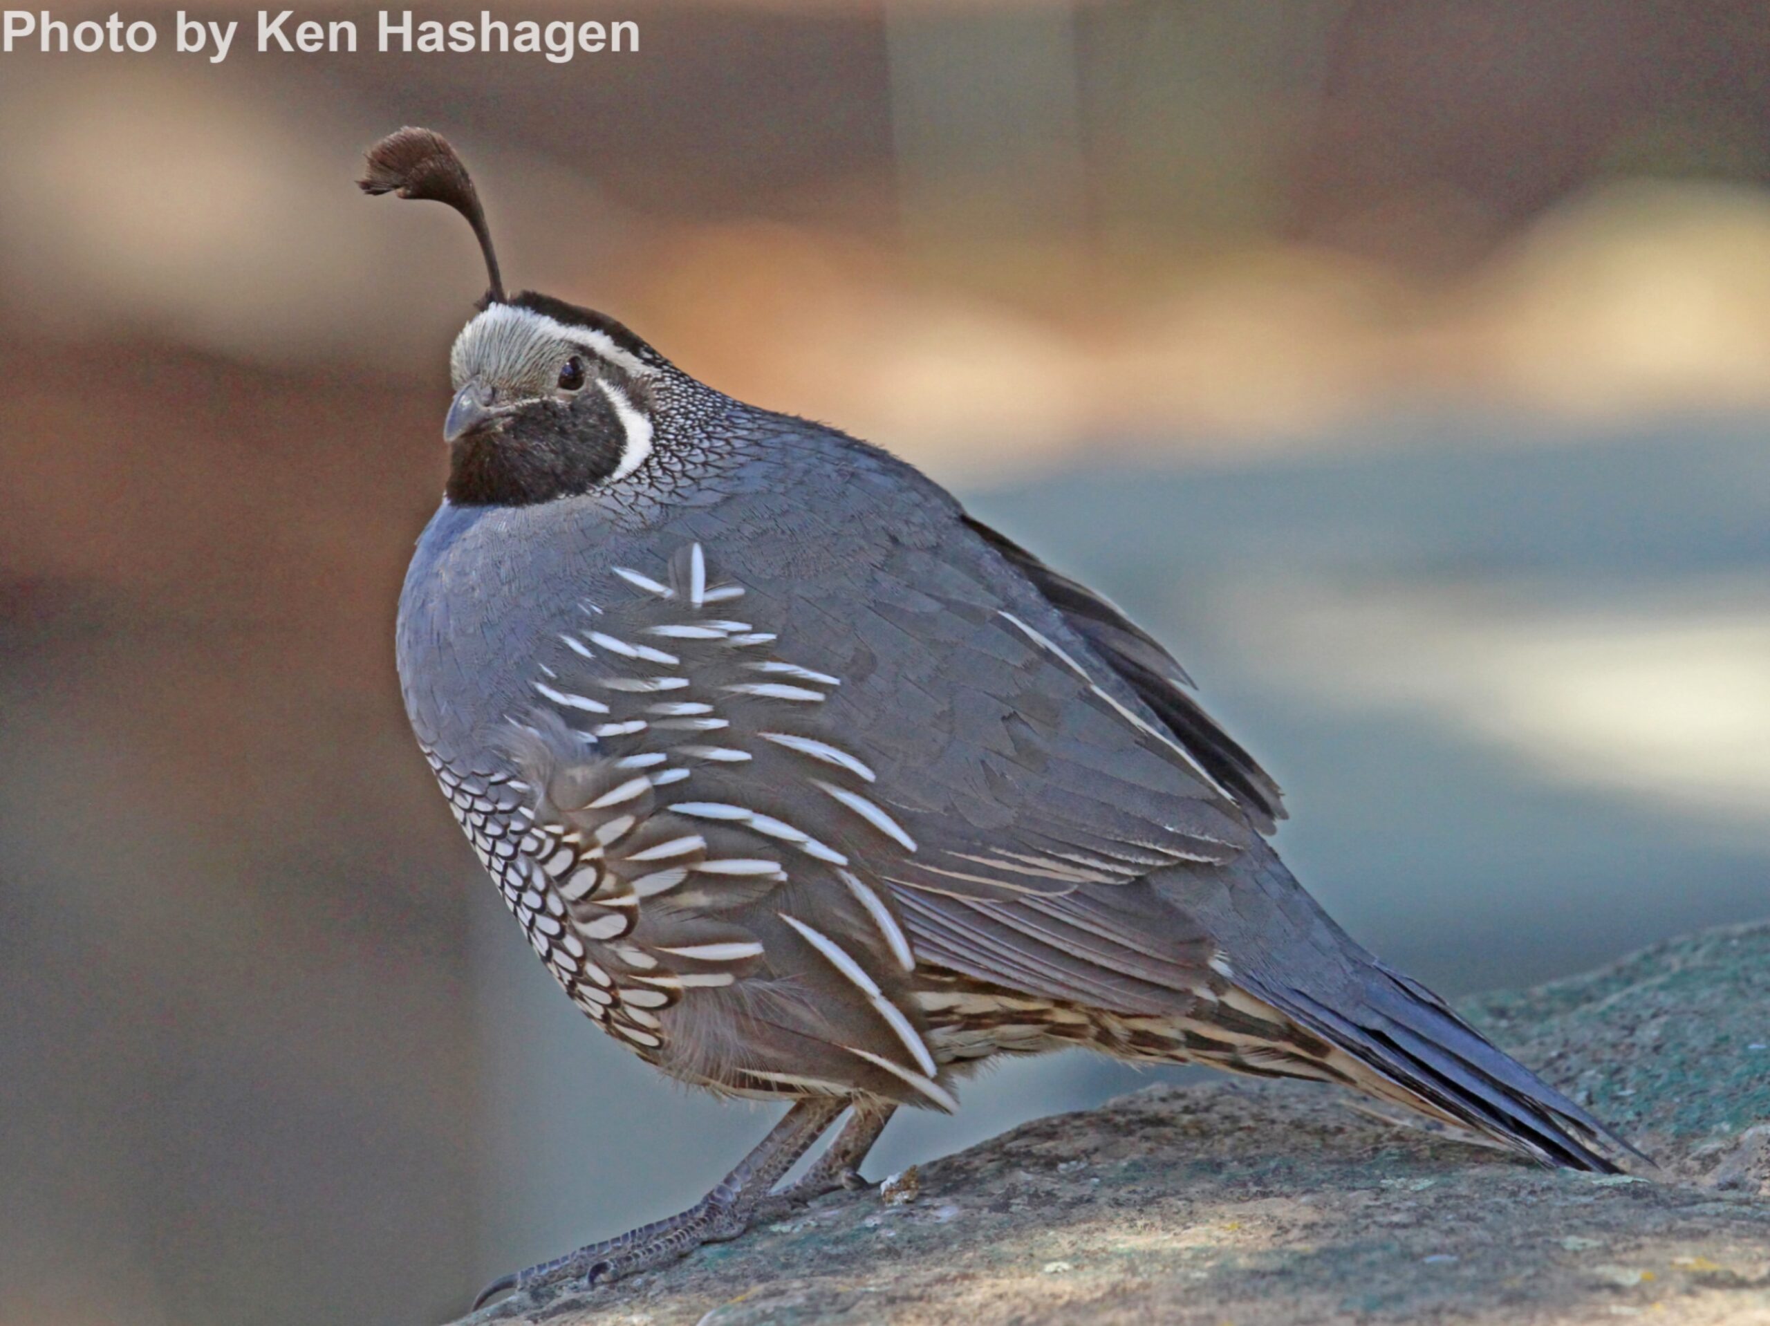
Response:
[{"label": "quail's dark blue-gray tail extending over the rock", "polygon": [[1278,983],[1246,984],[1375,1075],[1354,1082],[1374,1096],[1462,1124],[1551,1167],[1618,1174],[1630,1156],[1651,1165],[1418,981],[1375,960],[1366,960],[1363,977],[1356,998],[1335,1000],[1340,1007]]}]

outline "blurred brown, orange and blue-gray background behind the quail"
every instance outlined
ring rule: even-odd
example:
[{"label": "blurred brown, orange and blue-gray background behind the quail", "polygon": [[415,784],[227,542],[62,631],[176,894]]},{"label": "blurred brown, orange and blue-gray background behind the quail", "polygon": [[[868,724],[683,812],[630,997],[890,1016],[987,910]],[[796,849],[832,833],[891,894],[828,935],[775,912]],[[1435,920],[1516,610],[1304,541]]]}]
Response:
[{"label": "blurred brown, orange and blue-gray background behind the quail", "polygon": [[[350,184],[405,122],[513,283],[1170,641],[1446,993],[1770,914],[1770,5],[494,11],[641,23],[566,66],[193,12],[225,64],[152,5],[154,55],[0,57],[5,1326],[441,1321],[768,1122],[559,997],[405,729],[483,289]],[[871,1172],[1140,1080],[1016,1066]]]}]

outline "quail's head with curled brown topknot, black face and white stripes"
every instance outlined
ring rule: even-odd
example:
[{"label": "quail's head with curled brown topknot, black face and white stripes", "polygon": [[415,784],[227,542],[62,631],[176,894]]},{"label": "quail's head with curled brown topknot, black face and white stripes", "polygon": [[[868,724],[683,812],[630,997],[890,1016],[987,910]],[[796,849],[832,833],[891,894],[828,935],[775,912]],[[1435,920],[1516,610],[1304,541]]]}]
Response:
[{"label": "quail's head with curled brown topknot, black face and white stripes", "polygon": [[527,506],[639,473],[653,455],[655,388],[669,363],[611,317],[542,294],[506,296],[478,191],[441,135],[388,135],[368,150],[359,184],[448,204],[485,255],[490,287],[450,354],[450,501]]}]

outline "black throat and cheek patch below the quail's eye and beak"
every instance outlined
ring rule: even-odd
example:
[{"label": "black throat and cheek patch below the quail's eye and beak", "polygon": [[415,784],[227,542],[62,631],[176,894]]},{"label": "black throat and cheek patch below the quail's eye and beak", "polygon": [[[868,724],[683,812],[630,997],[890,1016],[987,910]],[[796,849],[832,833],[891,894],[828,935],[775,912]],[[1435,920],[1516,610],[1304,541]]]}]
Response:
[{"label": "black throat and cheek patch below the quail's eye and beak", "polygon": [[596,386],[572,400],[536,400],[453,444],[448,499],[533,506],[589,492],[620,467],[627,441],[627,425]]}]

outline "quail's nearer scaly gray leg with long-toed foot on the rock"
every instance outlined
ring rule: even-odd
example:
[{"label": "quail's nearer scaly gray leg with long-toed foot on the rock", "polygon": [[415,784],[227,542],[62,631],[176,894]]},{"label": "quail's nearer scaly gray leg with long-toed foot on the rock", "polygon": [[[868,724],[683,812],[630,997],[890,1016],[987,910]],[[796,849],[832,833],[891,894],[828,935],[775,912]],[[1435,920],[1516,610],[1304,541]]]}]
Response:
[{"label": "quail's nearer scaly gray leg with long-toed foot on the rock", "polygon": [[731,1174],[720,1179],[713,1191],[687,1211],[641,1225],[612,1239],[591,1243],[565,1257],[531,1266],[527,1271],[506,1275],[480,1292],[473,1305],[474,1310],[512,1289],[527,1292],[566,1280],[598,1285],[673,1262],[703,1243],[735,1239],[749,1227],[758,1202],[768,1195],[782,1174],[793,1168],[811,1144],[823,1137],[823,1129],[835,1121],[844,1106],[846,1101],[825,1096],[795,1103],[768,1137]]}]

